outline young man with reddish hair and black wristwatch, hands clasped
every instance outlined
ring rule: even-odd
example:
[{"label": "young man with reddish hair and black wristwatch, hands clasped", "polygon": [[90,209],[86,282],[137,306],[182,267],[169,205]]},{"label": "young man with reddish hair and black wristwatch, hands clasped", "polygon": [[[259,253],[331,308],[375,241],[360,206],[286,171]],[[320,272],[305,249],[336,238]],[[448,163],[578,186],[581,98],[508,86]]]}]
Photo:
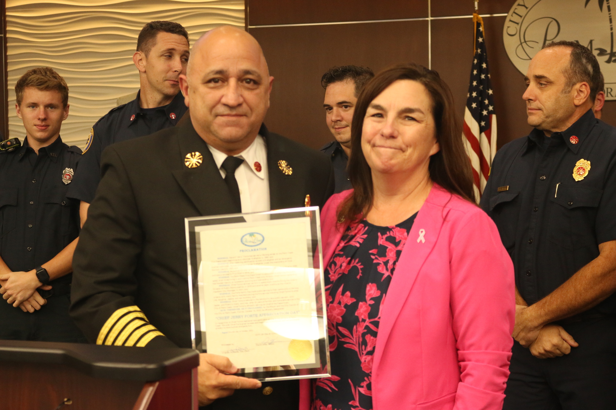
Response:
[{"label": "young man with reddish hair and black wristwatch, hands clasped", "polygon": [[68,316],[79,202],[66,193],[81,150],[60,139],[67,83],[34,68],[15,94],[26,138],[0,151],[0,339],[86,342]]}]

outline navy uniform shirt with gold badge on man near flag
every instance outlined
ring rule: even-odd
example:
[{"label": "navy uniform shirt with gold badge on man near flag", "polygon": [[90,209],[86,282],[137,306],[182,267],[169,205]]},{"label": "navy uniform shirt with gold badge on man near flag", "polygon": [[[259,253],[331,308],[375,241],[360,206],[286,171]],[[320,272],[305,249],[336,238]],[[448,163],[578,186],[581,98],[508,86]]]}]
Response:
[{"label": "navy uniform shirt with gold badge on man near flag", "polygon": [[[513,259],[517,289],[538,302],[616,239],[616,127],[588,110],[564,132],[534,129],[509,142],[496,153],[481,207]],[[615,302],[612,295],[589,312],[614,314]]]}]

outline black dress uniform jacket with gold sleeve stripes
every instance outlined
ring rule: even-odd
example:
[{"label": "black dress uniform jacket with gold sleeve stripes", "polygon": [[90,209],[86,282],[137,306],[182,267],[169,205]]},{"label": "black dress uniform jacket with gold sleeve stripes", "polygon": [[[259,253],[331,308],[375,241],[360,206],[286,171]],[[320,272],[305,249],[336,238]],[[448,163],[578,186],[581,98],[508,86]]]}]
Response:
[{"label": "black dress uniform jacket with gold sleeve stripes", "polygon": [[[323,206],[334,188],[329,159],[264,126],[259,134],[267,144],[271,208],[302,207],[306,195]],[[188,168],[184,159],[193,152],[203,163]],[[291,175],[280,171],[281,159]],[[73,258],[71,316],[97,344],[190,348],[184,218],[229,213],[227,185],[190,121],[112,145],[101,162],[102,180]],[[298,402],[276,403],[274,390],[268,396],[240,390],[214,405],[297,408]]]}]

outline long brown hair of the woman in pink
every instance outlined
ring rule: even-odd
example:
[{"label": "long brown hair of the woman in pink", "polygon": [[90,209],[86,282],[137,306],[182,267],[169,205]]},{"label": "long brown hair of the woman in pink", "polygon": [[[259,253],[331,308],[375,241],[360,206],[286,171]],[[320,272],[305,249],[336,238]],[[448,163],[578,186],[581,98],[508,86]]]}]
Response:
[{"label": "long brown hair of the woman in pink", "polygon": [[339,222],[357,220],[370,212],[374,187],[370,166],[362,151],[363,118],[368,105],[383,90],[400,79],[410,79],[423,84],[432,100],[432,116],[440,150],[430,157],[428,170],[431,180],[450,193],[474,203],[471,163],[464,151],[462,130],[455,115],[451,90],[436,71],[418,64],[396,65],[376,74],[357,98],[351,124],[351,158],[348,165],[349,179],[354,191],[338,209]]}]

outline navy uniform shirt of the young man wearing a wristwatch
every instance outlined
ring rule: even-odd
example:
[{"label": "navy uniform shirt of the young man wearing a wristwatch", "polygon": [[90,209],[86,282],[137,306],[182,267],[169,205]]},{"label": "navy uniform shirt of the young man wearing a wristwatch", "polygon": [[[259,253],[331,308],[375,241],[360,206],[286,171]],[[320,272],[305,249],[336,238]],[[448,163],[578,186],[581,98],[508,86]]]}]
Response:
[{"label": "navy uniform shirt of the young man wearing a wristwatch", "polygon": [[[79,235],[79,201],[67,198],[81,156],[58,137],[38,155],[0,151],[0,256],[12,271],[49,262]],[[70,282],[71,275],[49,284]]]}]

